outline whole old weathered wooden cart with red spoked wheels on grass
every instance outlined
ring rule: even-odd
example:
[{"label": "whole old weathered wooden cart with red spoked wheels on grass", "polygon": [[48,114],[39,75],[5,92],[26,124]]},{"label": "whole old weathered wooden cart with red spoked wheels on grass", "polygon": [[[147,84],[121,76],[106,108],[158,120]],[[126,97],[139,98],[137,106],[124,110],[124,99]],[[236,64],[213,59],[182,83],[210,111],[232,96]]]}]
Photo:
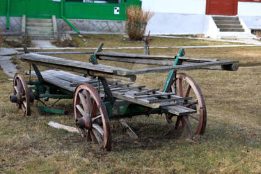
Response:
[{"label": "whole old weathered wooden cart with red spoked wheels on grass", "polygon": [[[75,123],[79,133],[89,141],[100,144],[102,148],[111,150],[109,119],[113,118],[164,113],[167,122],[172,122],[173,117],[176,118],[175,128],[187,127],[192,134],[204,134],[207,111],[203,94],[196,81],[187,74],[177,73],[177,70],[212,66],[219,70],[238,68],[238,61],[182,57],[184,49],[181,49],[177,56],[144,56],[101,51],[102,45],[90,55],[90,63],[33,53],[20,55],[22,61],[30,63],[29,81],[26,81],[22,74],[15,74],[11,102],[15,102],[24,114],[29,116],[34,100],[45,104],[49,98],[73,99]],[[168,60],[162,61],[162,58]],[[99,65],[97,59],[165,66],[126,70]],[[34,71],[31,71],[31,65]],[[40,72],[37,65],[88,74],[91,78],[57,70]],[[159,88],[150,89],[123,82],[135,81],[136,74],[166,71],[169,71],[169,74],[162,92]],[[38,80],[31,80],[31,74]],[[42,109],[63,113],[60,109],[45,106]]]}]

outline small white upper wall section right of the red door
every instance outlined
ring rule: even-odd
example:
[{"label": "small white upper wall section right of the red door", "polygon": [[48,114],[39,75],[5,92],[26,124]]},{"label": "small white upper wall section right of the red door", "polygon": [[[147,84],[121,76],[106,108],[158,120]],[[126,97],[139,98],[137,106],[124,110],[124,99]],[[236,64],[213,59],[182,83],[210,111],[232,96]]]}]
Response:
[{"label": "small white upper wall section right of the red door", "polygon": [[239,16],[261,16],[261,3],[258,2],[238,2]]}]

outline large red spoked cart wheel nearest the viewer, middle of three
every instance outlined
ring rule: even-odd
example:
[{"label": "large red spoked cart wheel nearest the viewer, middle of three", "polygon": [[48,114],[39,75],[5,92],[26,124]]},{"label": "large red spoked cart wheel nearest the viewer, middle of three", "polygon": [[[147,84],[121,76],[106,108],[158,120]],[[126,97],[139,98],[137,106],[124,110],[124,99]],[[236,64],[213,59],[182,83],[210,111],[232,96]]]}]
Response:
[{"label": "large red spoked cart wheel nearest the viewer, middle of three", "polygon": [[81,84],[74,91],[74,117],[81,136],[111,150],[109,118],[100,95],[90,84]]}]

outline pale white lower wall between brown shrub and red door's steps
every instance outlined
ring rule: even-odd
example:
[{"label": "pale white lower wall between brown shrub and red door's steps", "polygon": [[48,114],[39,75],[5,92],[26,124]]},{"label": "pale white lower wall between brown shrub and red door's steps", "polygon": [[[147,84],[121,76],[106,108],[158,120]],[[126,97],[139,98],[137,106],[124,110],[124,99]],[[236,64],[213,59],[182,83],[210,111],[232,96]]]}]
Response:
[{"label": "pale white lower wall between brown shrub and red door's steps", "polygon": [[152,35],[198,35],[217,38],[219,29],[209,15],[155,13],[147,26]]}]

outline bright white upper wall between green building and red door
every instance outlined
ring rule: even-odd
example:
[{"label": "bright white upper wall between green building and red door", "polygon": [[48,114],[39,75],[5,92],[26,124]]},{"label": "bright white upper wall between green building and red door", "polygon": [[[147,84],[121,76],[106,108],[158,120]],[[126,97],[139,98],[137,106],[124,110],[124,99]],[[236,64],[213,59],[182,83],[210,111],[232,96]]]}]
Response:
[{"label": "bright white upper wall between green building and red door", "polygon": [[142,0],[142,7],[155,13],[205,15],[206,0]]}]

